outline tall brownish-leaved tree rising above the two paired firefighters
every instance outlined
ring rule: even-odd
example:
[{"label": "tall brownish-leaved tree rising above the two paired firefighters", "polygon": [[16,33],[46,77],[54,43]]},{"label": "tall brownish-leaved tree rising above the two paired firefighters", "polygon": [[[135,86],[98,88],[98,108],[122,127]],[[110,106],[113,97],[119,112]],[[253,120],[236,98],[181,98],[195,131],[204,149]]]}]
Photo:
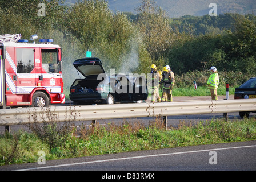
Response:
[{"label": "tall brownish-leaved tree rising above the two paired firefighters", "polygon": [[171,46],[172,29],[169,19],[164,10],[155,6],[153,0],[143,0],[137,11],[137,25],[143,35],[142,42],[155,61]]}]

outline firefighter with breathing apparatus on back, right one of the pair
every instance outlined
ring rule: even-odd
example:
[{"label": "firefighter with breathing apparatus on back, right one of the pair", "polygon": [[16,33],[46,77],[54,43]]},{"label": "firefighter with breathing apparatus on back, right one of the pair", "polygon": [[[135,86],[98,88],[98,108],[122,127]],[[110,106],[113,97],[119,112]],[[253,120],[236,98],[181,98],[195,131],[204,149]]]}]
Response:
[{"label": "firefighter with breathing apparatus on back, right one of the pair", "polygon": [[160,81],[163,86],[161,102],[173,101],[173,86],[175,83],[174,73],[167,67],[163,67],[163,78]]}]

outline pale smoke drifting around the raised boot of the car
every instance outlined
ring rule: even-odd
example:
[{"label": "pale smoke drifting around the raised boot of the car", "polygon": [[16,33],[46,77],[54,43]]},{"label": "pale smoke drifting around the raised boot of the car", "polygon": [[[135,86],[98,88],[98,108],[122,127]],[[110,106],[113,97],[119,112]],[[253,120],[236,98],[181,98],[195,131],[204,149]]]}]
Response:
[{"label": "pale smoke drifting around the raised boot of the car", "polygon": [[[67,41],[68,40],[68,41]],[[119,60],[122,61],[121,67],[118,69],[118,72],[110,72],[110,75],[123,73],[125,75],[129,75],[130,73],[134,73],[139,66],[139,44],[136,40],[132,39],[130,42],[130,51],[123,54]],[[63,82],[65,88],[65,94],[69,94],[69,88],[75,81],[75,79],[83,79],[84,76],[81,73],[77,72],[77,69],[74,68],[73,62],[77,59],[86,57],[86,50],[83,48],[82,44],[79,42],[77,38],[72,35],[69,35],[68,39],[62,39],[61,45],[62,47],[62,60],[63,60]],[[104,61],[102,53],[98,51],[97,48],[92,48],[90,51],[93,52],[93,57],[102,57],[102,61]],[[106,60],[105,60],[106,61]],[[103,68],[109,75],[108,71],[110,69],[107,62],[103,63]],[[108,69],[109,68],[109,69]]]}]

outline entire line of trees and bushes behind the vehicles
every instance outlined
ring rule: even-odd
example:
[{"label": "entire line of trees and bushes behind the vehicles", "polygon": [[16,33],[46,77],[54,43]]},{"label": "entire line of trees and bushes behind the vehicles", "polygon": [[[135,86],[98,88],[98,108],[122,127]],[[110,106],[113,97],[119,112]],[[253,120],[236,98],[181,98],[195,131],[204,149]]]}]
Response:
[{"label": "entire line of trees and bushes behind the vehicles", "polygon": [[[45,4],[45,16],[38,16],[39,3]],[[114,13],[105,0],[73,6],[59,0],[0,0],[0,34],[54,39],[66,68],[89,50],[106,71],[148,73],[154,63],[182,75],[214,65],[218,71],[255,76],[255,15],[169,18],[153,0],[142,0],[136,10],[136,15]]]}]

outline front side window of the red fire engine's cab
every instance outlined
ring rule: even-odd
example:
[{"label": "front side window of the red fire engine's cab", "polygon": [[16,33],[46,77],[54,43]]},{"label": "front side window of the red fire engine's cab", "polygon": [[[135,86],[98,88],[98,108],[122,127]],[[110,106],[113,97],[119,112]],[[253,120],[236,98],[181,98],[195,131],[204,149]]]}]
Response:
[{"label": "front side window of the red fire engine's cab", "polygon": [[58,73],[59,62],[57,49],[41,49],[42,67],[47,73]]}]

